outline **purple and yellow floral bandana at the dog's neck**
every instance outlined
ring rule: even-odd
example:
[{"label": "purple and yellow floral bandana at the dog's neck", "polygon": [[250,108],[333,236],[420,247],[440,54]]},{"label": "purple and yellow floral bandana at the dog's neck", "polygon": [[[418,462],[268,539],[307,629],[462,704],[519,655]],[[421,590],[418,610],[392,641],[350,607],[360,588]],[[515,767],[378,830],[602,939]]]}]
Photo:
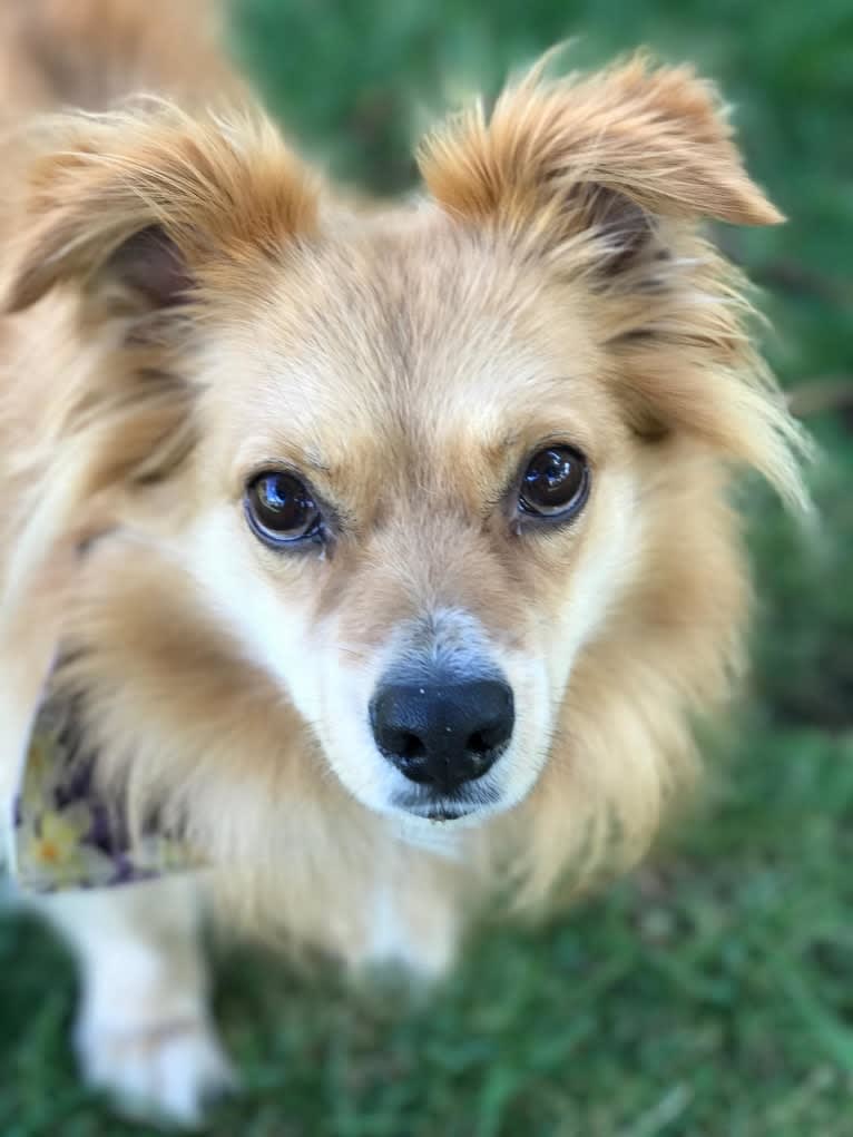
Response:
[{"label": "purple and yellow floral bandana at the dog's neck", "polygon": [[7,827],[7,862],[26,891],[108,888],[201,866],[156,827],[131,840],[126,819],[98,796],[69,707],[44,703],[30,733]]}]

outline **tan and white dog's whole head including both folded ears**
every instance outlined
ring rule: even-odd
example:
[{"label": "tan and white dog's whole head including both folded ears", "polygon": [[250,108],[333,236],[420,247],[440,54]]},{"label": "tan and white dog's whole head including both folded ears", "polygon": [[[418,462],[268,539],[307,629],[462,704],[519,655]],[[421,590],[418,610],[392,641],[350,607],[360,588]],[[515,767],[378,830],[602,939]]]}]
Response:
[{"label": "tan and white dog's whole head including both folded ears", "polygon": [[167,488],[194,603],[340,782],[471,824],[548,767],[647,828],[736,652],[726,471],[800,492],[697,233],[780,219],[713,91],[535,74],[426,140],[422,200],[367,213],[270,127],[60,128],[9,292],[74,290],[105,345],[58,434],[97,441],[92,484]]}]

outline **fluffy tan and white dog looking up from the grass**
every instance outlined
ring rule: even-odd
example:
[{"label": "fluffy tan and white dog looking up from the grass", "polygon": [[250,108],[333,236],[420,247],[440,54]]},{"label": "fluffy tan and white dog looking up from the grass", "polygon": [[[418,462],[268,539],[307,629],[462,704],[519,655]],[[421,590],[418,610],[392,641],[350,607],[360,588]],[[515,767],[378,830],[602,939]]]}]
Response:
[{"label": "fluffy tan and white dog looking up from the grass", "polygon": [[[805,504],[702,224],[782,218],[714,88],[643,56],[535,67],[423,140],[416,199],[363,204],[214,17],[3,9],[3,794],[49,689],[226,922],[438,974],[689,789],[743,667],[732,480]],[[197,891],[43,903],[85,1074],[185,1121],[230,1079]]]}]

